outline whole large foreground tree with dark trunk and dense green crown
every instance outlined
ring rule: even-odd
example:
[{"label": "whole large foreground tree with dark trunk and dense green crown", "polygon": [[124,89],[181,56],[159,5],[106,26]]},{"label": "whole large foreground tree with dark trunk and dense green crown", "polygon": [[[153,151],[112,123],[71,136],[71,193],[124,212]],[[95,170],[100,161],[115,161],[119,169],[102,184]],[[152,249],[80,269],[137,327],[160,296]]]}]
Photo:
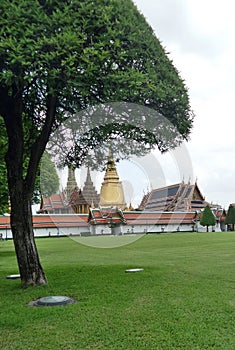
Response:
[{"label": "whole large foreground tree with dark trunk and dense green crown", "polygon": [[[47,282],[31,201],[42,154],[64,119],[98,103],[138,103],[167,118],[180,143],[188,138],[193,113],[184,81],[131,0],[2,0],[0,23],[0,115],[8,139],[11,228],[26,287]],[[130,129],[127,125],[129,136]],[[133,137],[141,138],[143,130]],[[174,137],[166,139],[164,150]],[[150,133],[142,142],[161,149],[161,139]]]}]

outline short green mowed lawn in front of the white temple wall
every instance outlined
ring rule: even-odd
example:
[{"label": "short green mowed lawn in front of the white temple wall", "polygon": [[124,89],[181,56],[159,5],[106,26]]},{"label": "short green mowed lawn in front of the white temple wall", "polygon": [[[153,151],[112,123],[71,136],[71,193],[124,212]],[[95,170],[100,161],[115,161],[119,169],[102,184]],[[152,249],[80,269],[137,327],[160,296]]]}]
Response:
[{"label": "short green mowed lawn in front of the white temple wall", "polygon": [[[89,238],[88,238],[89,239]],[[105,237],[100,237],[105,239]],[[145,235],[113,249],[38,239],[48,285],[20,289],[0,242],[0,349],[235,349],[235,233]],[[143,272],[125,273],[128,268]],[[30,307],[42,296],[77,299]]]}]

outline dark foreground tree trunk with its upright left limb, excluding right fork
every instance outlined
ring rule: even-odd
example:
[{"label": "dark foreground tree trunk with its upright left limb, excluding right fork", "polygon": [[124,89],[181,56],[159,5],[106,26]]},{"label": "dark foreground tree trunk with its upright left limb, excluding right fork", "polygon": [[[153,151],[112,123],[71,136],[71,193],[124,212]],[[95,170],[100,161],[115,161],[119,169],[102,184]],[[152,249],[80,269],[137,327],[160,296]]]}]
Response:
[{"label": "dark foreground tree trunk with its upright left limb, excluding right fork", "polygon": [[30,181],[24,179],[23,103],[17,86],[14,93],[5,94],[5,105],[8,108],[2,111],[2,115],[8,134],[5,160],[11,202],[12,235],[22,287],[36,286],[47,281],[39,261],[32,224],[31,201],[36,170],[32,173],[34,176]]}]

